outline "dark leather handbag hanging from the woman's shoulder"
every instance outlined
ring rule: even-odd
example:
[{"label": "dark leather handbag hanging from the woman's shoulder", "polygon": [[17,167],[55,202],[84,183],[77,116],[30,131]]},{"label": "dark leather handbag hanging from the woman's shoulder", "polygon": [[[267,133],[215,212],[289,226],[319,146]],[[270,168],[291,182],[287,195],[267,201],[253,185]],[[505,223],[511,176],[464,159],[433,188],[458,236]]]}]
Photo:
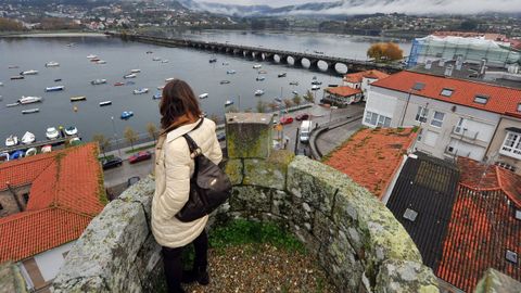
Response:
[{"label": "dark leather handbag hanging from the woman's shoulder", "polygon": [[[192,130],[199,128],[204,118]],[[195,167],[193,176],[190,178],[188,202],[176,214],[176,218],[188,222],[208,215],[224,204],[230,198],[231,181],[218,165],[203,154],[201,148],[188,133],[182,137],[187,140]]]}]

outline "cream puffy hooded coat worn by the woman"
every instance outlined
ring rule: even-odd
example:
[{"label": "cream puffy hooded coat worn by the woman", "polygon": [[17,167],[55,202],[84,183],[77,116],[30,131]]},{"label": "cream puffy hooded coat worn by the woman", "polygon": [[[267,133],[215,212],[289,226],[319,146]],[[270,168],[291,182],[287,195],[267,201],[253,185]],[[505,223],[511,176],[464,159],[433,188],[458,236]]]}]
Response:
[{"label": "cream puffy hooded coat worn by the woman", "polygon": [[[205,216],[194,221],[182,222],[175,217],[188,201],[190,178],[194,169],[193,160],[190,157],[190,151],[182,135],[190,132],[199,122],[171,130],[163,145],[156,146],[155,150],[152,232],[162,246],[180,247],[189,244],[201,234],[208,220],[208,216]],[[189,136],[206,157],[215,164],[220,162],[223,152],[215,135],[214,122],[204,119],[203,124]]]}]

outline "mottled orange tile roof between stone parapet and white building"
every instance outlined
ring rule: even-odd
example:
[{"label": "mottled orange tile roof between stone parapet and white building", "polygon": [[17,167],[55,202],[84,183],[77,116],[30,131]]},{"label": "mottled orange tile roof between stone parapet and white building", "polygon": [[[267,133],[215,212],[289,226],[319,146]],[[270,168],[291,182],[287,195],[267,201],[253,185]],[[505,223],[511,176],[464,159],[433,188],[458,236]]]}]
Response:
[{"label": "mottled orange tile roof between stone parapet and white building", "polygon": [[412,128],[363,129],[334,151],[325,164],[348,175],[381,200],[403,155],[415,140]]}]

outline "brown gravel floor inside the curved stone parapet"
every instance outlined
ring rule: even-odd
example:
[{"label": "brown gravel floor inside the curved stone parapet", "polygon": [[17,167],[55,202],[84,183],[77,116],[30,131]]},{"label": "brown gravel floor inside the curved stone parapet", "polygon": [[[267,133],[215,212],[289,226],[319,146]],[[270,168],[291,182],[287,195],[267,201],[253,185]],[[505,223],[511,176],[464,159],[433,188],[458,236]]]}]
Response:
[{"label": "brown gravel floor inside the curved stone parapet", "polygon": [[338,292],[316,259],[268,244],[209,250],[207,286],[187,292]]}]

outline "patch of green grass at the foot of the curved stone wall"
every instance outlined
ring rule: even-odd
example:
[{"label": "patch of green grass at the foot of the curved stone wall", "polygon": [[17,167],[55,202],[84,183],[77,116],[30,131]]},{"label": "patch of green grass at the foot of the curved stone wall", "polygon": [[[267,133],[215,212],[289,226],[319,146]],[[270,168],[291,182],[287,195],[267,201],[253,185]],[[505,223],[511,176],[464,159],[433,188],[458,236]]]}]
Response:
[{"label": "patch of green grass at the foot of the curved stone wall", "polygon": [[285,229],[272,222],[236,219],[217,227],[209,233],[209,245],[214,249],[247,243],[267,243],[290,252],[305,253],[304,244]]}]

